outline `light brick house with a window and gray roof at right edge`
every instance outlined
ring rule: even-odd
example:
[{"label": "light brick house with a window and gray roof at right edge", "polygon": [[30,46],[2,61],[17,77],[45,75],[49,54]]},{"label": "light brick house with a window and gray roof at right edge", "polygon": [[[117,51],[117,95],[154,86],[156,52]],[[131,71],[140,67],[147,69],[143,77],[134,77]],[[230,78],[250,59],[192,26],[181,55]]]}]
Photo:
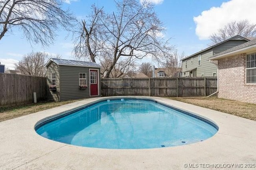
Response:
[{"label": "light brick house with a window and gray roof at right edge", "polygon": [[212,57],[218,64],[218,97],[256,103],[256,39]]}]

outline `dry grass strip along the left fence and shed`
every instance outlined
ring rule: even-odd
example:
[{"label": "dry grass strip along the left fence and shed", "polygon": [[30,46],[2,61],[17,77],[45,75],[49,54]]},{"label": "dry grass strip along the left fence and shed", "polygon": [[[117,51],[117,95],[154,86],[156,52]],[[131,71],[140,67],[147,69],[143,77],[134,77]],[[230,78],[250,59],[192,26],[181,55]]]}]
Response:
[{"label": "dry grass strip along the left fence and shed", "polygon": [[[81,99],[82,100],[82,99]],[[22,104],[19,106],[3,106],[0,107],[0,122],[20,117],[23,115],[28,115],[30,113],[35,113],[38,111],[50,109],[57,106],[62,106],[64,104],[69,104],[72,102],[77,102],[79,100],[68,100],[64,102],[38,102],[36,104]]]}]

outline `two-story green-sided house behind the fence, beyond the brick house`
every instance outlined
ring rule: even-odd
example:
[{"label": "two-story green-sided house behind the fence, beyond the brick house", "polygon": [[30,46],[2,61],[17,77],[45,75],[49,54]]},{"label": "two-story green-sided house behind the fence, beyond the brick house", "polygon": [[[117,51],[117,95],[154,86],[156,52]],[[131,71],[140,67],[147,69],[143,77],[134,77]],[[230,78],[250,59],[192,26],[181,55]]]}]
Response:
[{"label": "two-story green-sided house behind the fence, beyond the brick house", "polygon": [[217,76],[217,66],[216,64],[210,63],[208,58],[248,41],[250,41],[250,39],[236,35],[182,59],[182,76]]}]

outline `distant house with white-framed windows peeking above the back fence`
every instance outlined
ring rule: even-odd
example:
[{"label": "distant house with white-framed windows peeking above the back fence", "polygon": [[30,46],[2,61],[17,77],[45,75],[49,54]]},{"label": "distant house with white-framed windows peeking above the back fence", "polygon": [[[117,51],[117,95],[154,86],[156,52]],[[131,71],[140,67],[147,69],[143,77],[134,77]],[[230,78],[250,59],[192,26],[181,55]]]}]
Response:
[{"label": "distant house with white-framed windows peeking above the back fence", "polygon": [[182,68],[153,68],[153,77],[180,77]]}]

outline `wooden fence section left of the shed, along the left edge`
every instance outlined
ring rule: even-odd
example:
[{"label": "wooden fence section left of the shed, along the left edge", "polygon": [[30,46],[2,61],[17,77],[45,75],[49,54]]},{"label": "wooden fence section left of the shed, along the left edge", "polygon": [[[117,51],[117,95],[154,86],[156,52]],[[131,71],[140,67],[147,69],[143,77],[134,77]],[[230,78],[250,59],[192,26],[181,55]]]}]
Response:
[{"label": "wooden fence section left of the shed, along the left edge", "polygon": [[0,106],[46,100],[47,83],[45,77],[0,73]]}]

